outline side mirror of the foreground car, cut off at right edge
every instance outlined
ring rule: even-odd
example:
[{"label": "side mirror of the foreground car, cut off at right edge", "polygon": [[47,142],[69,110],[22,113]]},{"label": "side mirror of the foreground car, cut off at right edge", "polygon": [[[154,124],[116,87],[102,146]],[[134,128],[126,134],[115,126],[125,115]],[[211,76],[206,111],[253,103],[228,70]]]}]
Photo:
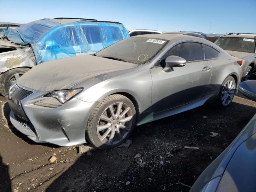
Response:
[{"label": "side mirror of the foreground car, cut off at right edge", "polygon": [[250,100],[256,101],[256,80],[248,80],[241,82],[239,91]]}]

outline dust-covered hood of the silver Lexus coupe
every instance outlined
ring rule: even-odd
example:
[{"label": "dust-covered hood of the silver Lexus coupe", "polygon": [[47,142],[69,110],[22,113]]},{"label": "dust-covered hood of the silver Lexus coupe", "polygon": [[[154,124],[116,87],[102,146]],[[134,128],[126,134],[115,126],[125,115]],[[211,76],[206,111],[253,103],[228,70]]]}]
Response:
[{"label": "dust-covered hood of the silver Lexus coupe", "polygon": [[136,66],[138,65],[92,55],[63,58],[32,68],[18,79],[17,84],[32,90],[62,90],[100,74]]}]

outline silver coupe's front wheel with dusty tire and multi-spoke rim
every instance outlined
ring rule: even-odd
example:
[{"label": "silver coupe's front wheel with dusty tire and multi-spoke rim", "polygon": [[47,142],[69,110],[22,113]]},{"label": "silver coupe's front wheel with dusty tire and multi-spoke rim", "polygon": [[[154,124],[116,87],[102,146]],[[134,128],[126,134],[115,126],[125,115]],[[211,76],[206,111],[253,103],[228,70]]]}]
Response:
[{"label": "silver coupe's front wheel with dusty tire and multi-spoke rim", "polygon": [[107,96],[92,111],[86,138],[100,149],[122,144],[131,134],[136,121],[134,104],[126,96]]}]

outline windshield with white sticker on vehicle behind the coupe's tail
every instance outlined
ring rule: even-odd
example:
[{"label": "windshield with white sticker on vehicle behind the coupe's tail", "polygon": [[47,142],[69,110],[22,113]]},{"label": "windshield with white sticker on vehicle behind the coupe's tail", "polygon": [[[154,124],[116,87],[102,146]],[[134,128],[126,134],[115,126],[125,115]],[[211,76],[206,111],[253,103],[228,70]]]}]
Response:
[{"label": "windshield with white sticker on vehicle behind the coupe's tail", "polygon": [[255,39],[238,37],[220,37],[215,42],[224,50],[254,53]]}]

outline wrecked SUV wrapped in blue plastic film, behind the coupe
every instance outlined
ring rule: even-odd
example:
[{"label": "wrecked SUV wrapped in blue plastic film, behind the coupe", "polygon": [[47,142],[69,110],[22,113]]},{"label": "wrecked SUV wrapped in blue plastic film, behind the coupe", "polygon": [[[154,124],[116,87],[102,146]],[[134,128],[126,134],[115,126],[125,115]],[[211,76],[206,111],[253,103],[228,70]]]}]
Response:
[{"label": "wrecked SUV wrapped in blue plastic film, behind the coupe", "polygon": [[121,23],[88,19],[36,20],[8,29],[0,39],[0,94],[30,68],[49,60],[81,56],[129,37]]}]

